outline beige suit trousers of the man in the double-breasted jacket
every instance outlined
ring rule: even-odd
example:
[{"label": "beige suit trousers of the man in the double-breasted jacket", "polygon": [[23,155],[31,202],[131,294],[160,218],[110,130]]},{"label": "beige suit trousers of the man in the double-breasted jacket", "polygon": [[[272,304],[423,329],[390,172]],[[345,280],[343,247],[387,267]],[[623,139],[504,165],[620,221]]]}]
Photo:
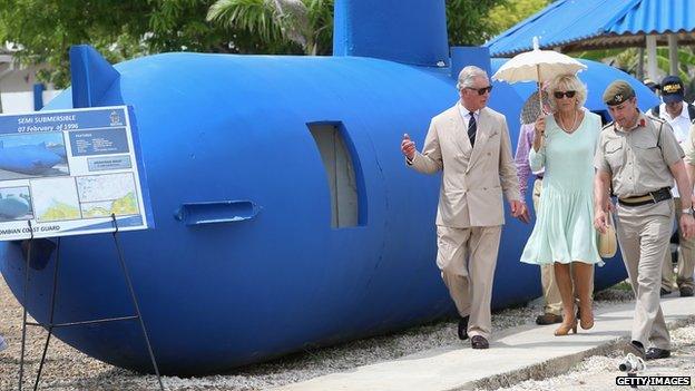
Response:
[{"label": "beige suit trousers of the man in the double-breasted jacket", "polygon": [[470,336],[490,336],[492,278],[501,232],[501,225],[470,228],[437,226],[437,266],[459,315],[470,315]]}]

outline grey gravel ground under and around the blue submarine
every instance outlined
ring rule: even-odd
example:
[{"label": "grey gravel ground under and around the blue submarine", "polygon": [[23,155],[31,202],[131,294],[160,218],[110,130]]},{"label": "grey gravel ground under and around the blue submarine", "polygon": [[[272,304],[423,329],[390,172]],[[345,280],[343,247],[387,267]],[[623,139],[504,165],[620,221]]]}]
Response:
[{"label": "grey gravel ground under and around the blue submarine", "polygon": [[[601,307],[632,300],[632,292],[620,289],[611,289],[596,295],[596,306]],[[532,322],[539,313],[538,303],[531,303],[525,307],[510,309],[496,312],[492,317],[493,329],[497,331],[513,328]],[[0,353],[0,390],[17,388],[20,343],[21,343],[21,306],[10,293],[4,280],[0,277],[0,334],[4,335],[10,348]],[[287,383],[307,380],[319,375],[345,371],[355,366],[376,363],[384,360],[397,359],[419,351],[457,343],[457,323],[454,321],[440,322],[420,328],[409,329],[398,334],[371,338],[362,341],[345,343],[334,348],[317,349],[300,354],[287,356],[265,364],[258,364],[231,372],[225,375],[179,379],[175,377],[164,378],[167,390],[263,390]],[[691,326],[689,333],[695,332]],[[28,333],[28,358],[25,379],[27,375],[36,377],[38,362],[45,342],[46,332],[37,328],[30,328]],[[674,340],[676,333],[674,333]],[[684,344],[681,355],[688,355],[691,349],[689,368],[693,368],[693,342]],[[689,346],[689,348],[688,348]],[[681,351],[678,351],[681,352]],[[610,361],[613,360],[613,361]],[[591,368],[605,371],[616,368],[617,358],[596,358],[589,360]],[[599,364],[595,364],[598,362]],[[587,369],[580,369],[586,372]],[[613,370],[613,372],[616,372]],[[611,372],[611,373],[613,373]],[[579,375],[575,375],[579,378]],[[31,380],[32,382],[33,380]],[[569,380],[568,380],[569,381]],[[523,384],[523,383],[522,383]],[[539,388],[541,383],[534,383],[530,388],[519,390],[545,390]],[[606,384],[615,384],[615,381]],[[32,383],[26,383],[31,388]],[[522,387],[519,384],[519,387]],[[549,385],[551,387],[551,385]],[[577,385],[574,387],[575,389]],[[145,390],[157,389],[156,377],[141,375],[121,370],[112,365],[94,360],[67,344],[52,339],[48,359],[41,377],[41,389],[45,390]],[[550,388],[549,388],[550,389]],[[556,389],[555,385],[551,389]],[[605,389],[605,388],[599,388]]]}]

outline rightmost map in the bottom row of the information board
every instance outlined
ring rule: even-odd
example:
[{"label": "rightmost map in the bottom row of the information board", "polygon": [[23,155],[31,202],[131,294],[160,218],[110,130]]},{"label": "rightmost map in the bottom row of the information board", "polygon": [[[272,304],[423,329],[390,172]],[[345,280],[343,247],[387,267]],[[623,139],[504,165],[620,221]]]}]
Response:
[{"label": "rightmost map in the bottom row of the information board", "polygon": [[139,214],[131,173],[80,176],[77,190],[84,218]]}]

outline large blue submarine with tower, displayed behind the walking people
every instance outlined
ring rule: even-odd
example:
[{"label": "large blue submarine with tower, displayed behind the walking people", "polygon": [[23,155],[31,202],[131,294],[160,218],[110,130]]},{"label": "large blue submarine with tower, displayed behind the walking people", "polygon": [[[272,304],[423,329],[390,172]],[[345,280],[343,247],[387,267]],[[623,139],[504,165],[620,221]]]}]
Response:
[{"label": "large blue submarine with tower, displayed behind the walking people", "polygon": [[[422,147],[432,116],[458,99],[467,65],[495,71],[487,48],[449,48],[443,0],[336,0],[334,55],[173,52],[108,65],[71,50],[72,87],[47,109],[130,105],[155,228],[120,234],[163,374],[229,371],[292,352],[384,334],[454,314],[441,282],[434,215],[440,176],[405,167],[401,136]],[[587,107],[638,80],[585,61]],[[495,84],[516,147],[534,86]],[[506,204],[507,207],[507,204]],[[502,231],[496,309],[540,295],[519,263],[531,225]],[[56,241],[0,244],[0,268],[40,322],[49,317]],[[63,237],[56,323],[134,313],[110,235]],[[626,277],[619,256],[596,289]],[[137,322],[57,329],[107,363],[151,372]]]}]

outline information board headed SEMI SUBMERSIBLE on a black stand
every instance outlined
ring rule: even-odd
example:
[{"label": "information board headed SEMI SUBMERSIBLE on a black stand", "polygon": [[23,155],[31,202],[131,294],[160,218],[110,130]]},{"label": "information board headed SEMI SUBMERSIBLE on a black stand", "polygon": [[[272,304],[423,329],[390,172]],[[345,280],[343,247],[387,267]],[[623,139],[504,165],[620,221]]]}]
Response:
[{"label": "information board headed SEMI SUBMERSIBLE on a black stand", "polygon": [[[153,226],[129,107],[0,115],[0,241]],[[31,229],[29,224],[31,223]]]}]

